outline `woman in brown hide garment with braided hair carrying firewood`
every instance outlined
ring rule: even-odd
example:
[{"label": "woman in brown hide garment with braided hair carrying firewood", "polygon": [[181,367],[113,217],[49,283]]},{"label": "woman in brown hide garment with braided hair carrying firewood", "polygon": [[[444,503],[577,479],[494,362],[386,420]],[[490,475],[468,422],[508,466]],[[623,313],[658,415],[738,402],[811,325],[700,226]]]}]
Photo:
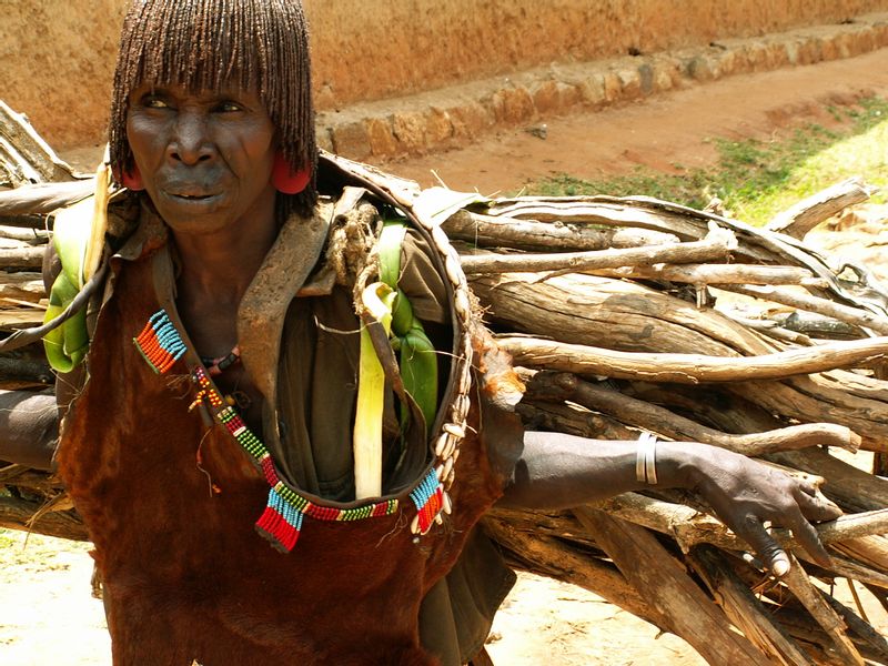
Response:
[{"label": "woman in brown hide garment with braided hair carrying firewood", "polygon": [[[512,579],[473,532],[494,502],[696,488],[776,574],[788,558],[765,521],[828,557],[808,521],[838,508],[744,456],[523,433],[497,401],[509,371],[453,307],[464,281],[421,225],[397,286],[456,352],[441,367],[455,381],[431,448],[386,412],[382,497],[356,500],[356,269],[326,279],[330,239],[411,211],[360,169],[317,161],[310,91],[297,1],[129,9],[111,164],[132,193],[112,214],[132,231],[110,241],[89,379],[59,391],[64,407],[75,395],[59,468],[95,544],[115,664],[468,660]],[[464,381],[470,343],[477,391]]]}]

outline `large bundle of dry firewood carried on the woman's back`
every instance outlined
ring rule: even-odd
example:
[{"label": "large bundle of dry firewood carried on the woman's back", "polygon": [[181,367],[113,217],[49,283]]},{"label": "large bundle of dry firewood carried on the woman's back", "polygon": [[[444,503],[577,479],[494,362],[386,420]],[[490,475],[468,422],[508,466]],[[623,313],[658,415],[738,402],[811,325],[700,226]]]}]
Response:
[{"label": "large bundle of dry firewood carried on the woman's back", "polygon": [[[8,186],[21,159],[0,152]],[[40,180],[57,184],[0,192],[3,332],[42,321],[44,213],[89,189],[58,171]],[[606,196],[485,201],[444,222],[526,381],[517,408],[529,428],[723,446],[823,480],[846,512],[819,527],[829,569],[775,527],[794,554],[776,579],[690,493],[498,509],[484,526],[516,567],[591,589],[712,664],[888,664],[867,614],[888,609],[888,291],[801,240],[868,195],[841,183],[768,230]],[[0,387],[50,381],[39,343],[0,353]],[[0,526],[87,538],[52,475],[0,463]]]}]

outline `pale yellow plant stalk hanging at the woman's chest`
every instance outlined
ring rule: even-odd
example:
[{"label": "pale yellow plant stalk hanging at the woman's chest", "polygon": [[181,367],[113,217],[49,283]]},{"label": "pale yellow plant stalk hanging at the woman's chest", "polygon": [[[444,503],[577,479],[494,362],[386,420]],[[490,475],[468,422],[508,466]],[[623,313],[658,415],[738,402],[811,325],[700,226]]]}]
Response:
[{"label": "pale yellow plant stalk hanging at the woman's chest", "polygon": [[[392,303],[386,284],[374,282],[361,294],[364,311],[389,334]],[[357,371],[357,411],[354,417],[354,490],[356,500],[382,495],[382,418],[385,404],[385,373],[366,325],[361,329],[361,361]]]}]

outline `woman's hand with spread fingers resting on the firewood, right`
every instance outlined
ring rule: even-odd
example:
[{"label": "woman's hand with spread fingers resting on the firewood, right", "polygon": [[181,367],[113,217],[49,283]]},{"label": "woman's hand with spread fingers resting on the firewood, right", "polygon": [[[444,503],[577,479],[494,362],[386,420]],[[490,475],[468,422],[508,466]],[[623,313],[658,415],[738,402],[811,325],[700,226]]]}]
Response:
[{"label": "woman's hand with spread fingers resting on the firewood, right", "polygon": [[694,445],[689,457],[689,485],[776,576],[789,569],[789,557],[768,534],[766,523],[791,529],[815,562],[829,566],[829,554],[811,523],[833,521],[842,512],[817,483],[713,446]]}]

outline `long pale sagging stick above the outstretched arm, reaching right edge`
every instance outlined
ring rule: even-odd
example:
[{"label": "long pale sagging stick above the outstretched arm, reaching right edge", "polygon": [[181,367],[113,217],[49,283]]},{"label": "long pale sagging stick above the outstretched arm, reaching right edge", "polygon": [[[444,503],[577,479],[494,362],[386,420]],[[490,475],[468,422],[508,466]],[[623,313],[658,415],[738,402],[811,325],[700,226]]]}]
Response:
[{"label": "long pale sagging stick above the outstretched arm, reaching right edge", "polygon": [[854,366],[888,355],[888,336],[740,357],[633,354],[508,335],[497,337],[497,344],[512,354],[515,363],[528,367],[679,384],[778,380]]}]

